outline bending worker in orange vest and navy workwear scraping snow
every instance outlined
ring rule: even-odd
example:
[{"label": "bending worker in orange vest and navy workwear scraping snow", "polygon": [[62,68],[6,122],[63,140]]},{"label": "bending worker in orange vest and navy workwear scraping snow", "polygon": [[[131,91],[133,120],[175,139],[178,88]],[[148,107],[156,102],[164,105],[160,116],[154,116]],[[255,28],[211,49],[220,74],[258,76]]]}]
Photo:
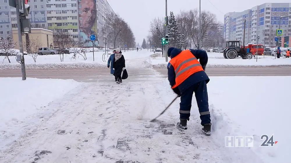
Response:
[{"label": "bending worker in orange vest and navy workwear scraping snow", "polygon": [[203,50],[181,50],[175,47],[170,47],[167,53],[171,58],[167,67],[168,80],[173,91],[181,97],[180,122],[177,127],[187,129],[192,96],[195,93],[202,131],[205,135],[210,135],[211,120],[206,87],[210,79],[204,71],[208,62],[207,53]]}]

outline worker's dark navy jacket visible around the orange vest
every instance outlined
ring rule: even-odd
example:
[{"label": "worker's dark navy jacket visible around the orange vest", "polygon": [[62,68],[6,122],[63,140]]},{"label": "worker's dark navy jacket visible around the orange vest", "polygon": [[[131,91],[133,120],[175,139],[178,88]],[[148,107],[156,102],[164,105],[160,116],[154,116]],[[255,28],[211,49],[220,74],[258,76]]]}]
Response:
[{"label": "worker's dark navy jacket visible around the orange vest", "polygon": [[[194,50],[194,49],[189,49],[191,53],[199,59],[199,62],[203,69],[205,70],[205,67],[208,62],[208,56],[207,53],[204,50]],[[171,58],[174,58],[178,54],[182,52],[181,49],[175,48],[171,52]],[[171,87],[173,87],[176,83],[175,81],[176,74],[175,74],[175,69],[173,66],[171,66],[171,63],[168,63],[168,80],[170,82]],[[199,71],[196,72],[192,75],[190,75],[186,80],[184,80],[180,85],[178,85],[178,89],[180,90],[181,93],[183,93],[186,89],[188,89],[190,86],[194,85],[195,83],[198,83],[200,81],[206,80],[206,83],[210,81],[208,78],[207,74],[205,71]]]}]

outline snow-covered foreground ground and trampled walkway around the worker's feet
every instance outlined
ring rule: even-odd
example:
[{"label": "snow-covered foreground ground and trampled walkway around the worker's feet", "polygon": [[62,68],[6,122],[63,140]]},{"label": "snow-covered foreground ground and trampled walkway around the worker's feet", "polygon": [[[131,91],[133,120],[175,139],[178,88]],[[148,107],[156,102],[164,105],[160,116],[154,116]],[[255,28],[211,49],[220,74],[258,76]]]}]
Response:
[{"label": "snow-covered foreground ground and trampled walkway around the worker's feet", "polygon": [[[148,53],[143,53],[144,58],[127,54],[129,78],[119,85],[109,73],[100,76],[111,76],[107,82],[78,84],[72,80],[13,78],[12,82],[0,78],[0,108],[11,113],[0,114],[5,120],[0,134],[1,163],[271,163],[291,159],[291,111],[286,101],[291,88],[277,84],[290,81],[290,76],[210,77],[212,135],[206,136],[201,133],[195,98],[187,130],[181,132],[175,126],[179,98],[156,122],[149,122],[175,94],[158,73],[142,82],[130,78],[134,69],[154,71],[145,68]],[[38,84],[29,88],[23,84],[36,83],[33,80]],[[36,97],[17,102],[22,92]],[[19,121],[9,123],[14,118]],[[278,142],[260,147],[262,135],[274,135]],[[254,147],[226,147],[226,136],[253,136]]]}]

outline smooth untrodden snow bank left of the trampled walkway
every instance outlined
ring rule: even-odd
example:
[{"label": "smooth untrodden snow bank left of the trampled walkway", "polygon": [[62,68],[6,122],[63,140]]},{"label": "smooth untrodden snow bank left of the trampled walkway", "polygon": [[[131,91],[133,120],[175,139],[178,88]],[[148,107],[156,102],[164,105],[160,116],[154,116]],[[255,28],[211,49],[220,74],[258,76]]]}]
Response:
[{"label": "smooth untrodden snow bank left of the trampled walkway", "polygon": [[47,109],[49,103],[78,85],[74,80],[0,78],[0,151],[17,140],[24,126],[40,121],[31,116],[53,113],[58,108]]}]

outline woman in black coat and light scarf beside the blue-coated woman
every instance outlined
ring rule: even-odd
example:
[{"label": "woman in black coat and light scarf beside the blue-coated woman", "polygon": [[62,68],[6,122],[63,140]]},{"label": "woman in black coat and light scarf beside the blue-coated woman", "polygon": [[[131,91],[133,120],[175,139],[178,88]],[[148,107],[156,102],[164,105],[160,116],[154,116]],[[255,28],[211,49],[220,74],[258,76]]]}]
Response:
[{"label": "woman in black coat and light scarf beside the blue-coated woman", "polygon": [[113,68],[114,68],[115,80],[117,80],[116,83],[119,84],[119,83],[122,83],[121,74],[122,74],[123,68],[125,68],[125,59],[119,48],[116,48],[115,52],[116,53],[113,58]]}]

